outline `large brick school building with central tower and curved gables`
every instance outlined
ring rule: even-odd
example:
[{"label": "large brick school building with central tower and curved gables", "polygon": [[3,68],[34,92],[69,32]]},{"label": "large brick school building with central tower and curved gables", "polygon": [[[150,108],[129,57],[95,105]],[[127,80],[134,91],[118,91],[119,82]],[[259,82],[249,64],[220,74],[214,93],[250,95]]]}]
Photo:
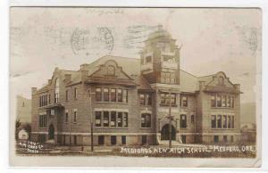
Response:
[{"label": "large brick school building with central tower and curved gables", "polygon": [[140,58],[106,55],[80,70],[55,68],[32,87],[32,139],[95,145],[238,143],[240,87],[224,72],[196,77],[180,69],[180,47],[164,29]]}]

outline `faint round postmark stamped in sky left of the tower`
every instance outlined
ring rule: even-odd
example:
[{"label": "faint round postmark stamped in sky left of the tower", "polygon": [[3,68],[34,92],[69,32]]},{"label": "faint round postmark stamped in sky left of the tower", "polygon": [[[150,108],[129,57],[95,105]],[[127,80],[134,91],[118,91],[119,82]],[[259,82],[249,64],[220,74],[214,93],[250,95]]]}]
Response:
[{"label": "faint round postmark stamped in sky left of the tower", "polygon": [[74,29],[71,34],[71,50],[73,54],[102,56],[113,51],[113,33],[108,28]]}]

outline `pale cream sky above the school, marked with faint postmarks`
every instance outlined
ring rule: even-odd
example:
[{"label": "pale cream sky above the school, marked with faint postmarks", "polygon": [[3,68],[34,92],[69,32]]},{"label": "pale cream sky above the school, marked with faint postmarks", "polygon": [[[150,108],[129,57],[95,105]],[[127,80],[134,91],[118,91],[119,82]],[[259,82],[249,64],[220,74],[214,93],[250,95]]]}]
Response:
[{"label": "pale cream sky above the school, marked with faint postmarks", "polygon": [[30,98],[55,67],[79,70],[106,54],[139,58],[147,36],[163,25],[181,45],[180,69],[199,76],[224,71],[255,102],[261,76],[261,11],[239,8],[13,7],[11,96]]}]

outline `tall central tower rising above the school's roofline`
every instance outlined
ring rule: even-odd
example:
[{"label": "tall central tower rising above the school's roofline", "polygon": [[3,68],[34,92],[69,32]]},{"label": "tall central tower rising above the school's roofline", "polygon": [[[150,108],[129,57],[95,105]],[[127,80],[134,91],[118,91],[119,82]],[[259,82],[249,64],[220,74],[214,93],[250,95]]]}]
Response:
[{"label": "tall central tower rising above the school's roofline", "polygon": [[180,85],[180,48],[162,25],[147,37],[140,65],[141,75],[150,84]]}]

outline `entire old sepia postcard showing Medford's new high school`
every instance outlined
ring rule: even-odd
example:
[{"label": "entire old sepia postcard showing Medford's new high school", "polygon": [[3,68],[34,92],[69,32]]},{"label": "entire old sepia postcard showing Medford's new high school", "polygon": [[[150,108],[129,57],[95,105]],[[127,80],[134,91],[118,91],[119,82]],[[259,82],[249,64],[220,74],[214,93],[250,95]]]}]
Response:
[{"label": "entire old sepia postcard showing Medford's new high school", "polygon": [[261,9],[9,10],[13,166],[260,167]]}]

